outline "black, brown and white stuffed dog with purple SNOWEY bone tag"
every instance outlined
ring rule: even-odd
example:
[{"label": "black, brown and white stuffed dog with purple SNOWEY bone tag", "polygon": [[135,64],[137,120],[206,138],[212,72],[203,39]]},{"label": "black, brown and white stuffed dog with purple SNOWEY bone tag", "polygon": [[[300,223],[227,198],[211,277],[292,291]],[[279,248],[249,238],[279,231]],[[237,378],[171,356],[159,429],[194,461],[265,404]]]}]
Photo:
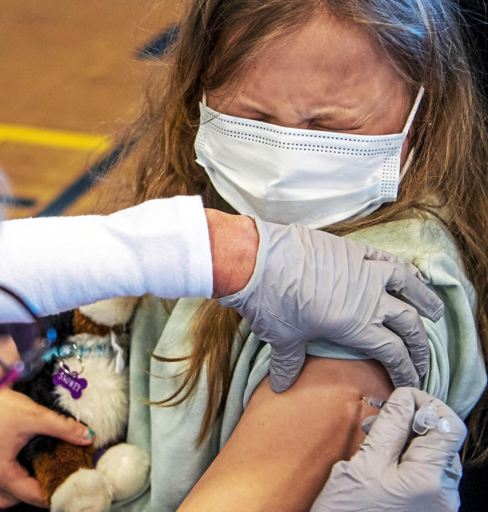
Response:
[{"label": "black, brown and white stuffed dog with purple SNOWEY bone tag", "polygon": [[116,298],[49,317],[56,347],[39,374],[14,387],[95,431],[89,446],[36,436],[19,454],[54,512],[109,510],[147,480],[149,455],[121,442],[129,410],[126,325],[136,301]]}]

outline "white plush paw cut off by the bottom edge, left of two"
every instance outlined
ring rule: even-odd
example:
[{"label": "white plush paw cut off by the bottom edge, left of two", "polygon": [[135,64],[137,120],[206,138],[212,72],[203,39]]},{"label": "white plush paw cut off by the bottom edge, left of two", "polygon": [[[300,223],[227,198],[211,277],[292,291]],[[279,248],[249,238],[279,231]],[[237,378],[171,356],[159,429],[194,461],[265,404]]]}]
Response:
[{"label": "white plush paw cut off by the bottom edge, left of two", "polygon": [[111,496],[96,470],[80,469],[70,475],[51,497],[51,512],[108,512]]}]

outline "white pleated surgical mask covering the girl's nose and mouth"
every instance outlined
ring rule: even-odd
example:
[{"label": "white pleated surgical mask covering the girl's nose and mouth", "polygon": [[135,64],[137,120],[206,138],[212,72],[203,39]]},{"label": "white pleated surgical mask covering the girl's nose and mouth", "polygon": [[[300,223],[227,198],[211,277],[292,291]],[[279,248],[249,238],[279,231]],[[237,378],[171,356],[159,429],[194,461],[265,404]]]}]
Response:
[{"label": "white pleated surgical mask covering the girl's nose and mouth", "polygon": [[219,114],[200,103],[196,161],[242,215],[311,228],[369,215],[396,201],[401,148],[423,91],[403,131],[393,135],[285,128]]}]

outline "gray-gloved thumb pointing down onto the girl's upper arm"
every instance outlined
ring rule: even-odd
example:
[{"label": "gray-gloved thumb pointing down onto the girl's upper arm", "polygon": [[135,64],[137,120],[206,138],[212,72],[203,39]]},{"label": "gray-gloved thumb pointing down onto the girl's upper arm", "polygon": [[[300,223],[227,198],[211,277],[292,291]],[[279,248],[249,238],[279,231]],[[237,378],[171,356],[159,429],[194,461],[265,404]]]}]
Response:
[{"label": "gray-gloved thumb pointing down onto the girl's upper arm", "polygon": [[271,346],[270,383],[271,389],[275,393],[286,391],[295,383],[303,366],[305,355],[306,346],[303,342],[279,349]]}]

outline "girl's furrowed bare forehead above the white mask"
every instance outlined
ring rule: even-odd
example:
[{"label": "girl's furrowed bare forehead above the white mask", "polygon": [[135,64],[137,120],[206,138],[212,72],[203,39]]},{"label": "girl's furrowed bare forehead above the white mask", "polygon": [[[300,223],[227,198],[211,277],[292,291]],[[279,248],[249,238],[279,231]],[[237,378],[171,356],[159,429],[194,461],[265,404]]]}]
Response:
[{"label": "girl's furrowed bare forehead above the white mask", "polygon": [[[283,108],[304,117],[318,110],[371,117],[393,102],[399,103],[401,124],[408,109],[403,81],[367,34],[333,17],[313,20],[262,48],[232,90],[234,105],[276,118]],[[229,99],[219,105],[219,91],[212,95],[216,110],[225,110]]]}]

